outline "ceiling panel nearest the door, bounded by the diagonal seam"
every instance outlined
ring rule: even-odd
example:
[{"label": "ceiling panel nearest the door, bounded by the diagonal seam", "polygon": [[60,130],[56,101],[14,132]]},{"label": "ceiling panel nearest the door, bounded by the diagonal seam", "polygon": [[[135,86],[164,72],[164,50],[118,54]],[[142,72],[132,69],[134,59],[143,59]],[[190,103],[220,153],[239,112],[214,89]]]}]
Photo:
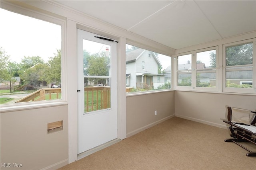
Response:
[{"label": "ceiling panel nearest the door, bounded by the diagonal seam", "polygon": [[129,29],[172,1],[64,0],[61,4],[123,29]]}]

